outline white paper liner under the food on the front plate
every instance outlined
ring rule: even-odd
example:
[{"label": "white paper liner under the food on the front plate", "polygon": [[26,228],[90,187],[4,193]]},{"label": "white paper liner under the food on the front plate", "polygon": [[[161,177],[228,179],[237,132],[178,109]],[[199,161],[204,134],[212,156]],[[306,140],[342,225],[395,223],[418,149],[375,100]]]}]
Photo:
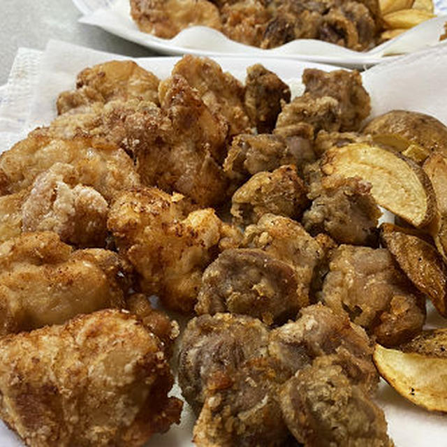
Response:
[{"label": "white paper liner under the food on the front plate", "polygon": [[[29,66],[27,51],[21,49],[16,67]],[[32,55],[36,63],[36,53]],[[30,56],[31,58],[31,56]],[[17,60],[18,60],[17,59]],[[49,124],[56,115],[55,101],[60,91],[73,89],[77,73],[93,64],[110,59],[127,59],[123,56],[89,50],[87,48],[51,41],[38,60],[41,61],[40,71],[22,71],[22,79],[17,76],[10,78],[7,90],[15,91],[22,100],[11,103],[10,108],[0,108],[0,124],[4,119],[22,116],[26,119],[24,131],[35,126]],[[230,71],[240,80],[245,77],[247,66],[261,61],[259,57],[214,57],[223,69]],[[134,59],[144,68],[154,72],[159,78],[166,78],[178,58],[142,58]],[[300,76],[302,70],[309,66],[330,70],[333,67],[293,61],[291,59],[264,59],[261,61],[267,68],[276,72],[283,80],[293,85],[295,94],[302,88]],[[24,80],[23,78],[27,78]],[[411,54],[393,63],[386,63],[371,68],[362,73],[365,88],[372,97],[372,115],[378,115],[392,109],[405,108],[430,113],[447,124],[447,47],[439,47],[430,52]],[[34,85],[34,98],[25,86]],[[22,108],[27,103],[28,110]],[[20,104],[20,106],[19,106]],[[19,111],[20,110],[20,111]],[[1,129],[1,127],[0,127]],[[0,132],[0,142],[5,133]],[[20,135],[15,134],[16,138]],[[7,149],[2,144],[0,149]],[[445,326],[444,318],[437,316],[431,305],[428,306],[427,327]],[[179,388],[175,386],[173,395],[181,396]],[[381,383],[376,402],[384,409],[388,420],[388,432],[397,447],[425,447],[447,445],[447,416],[430,413],[407,402],[397,395],[386,383]],[[182,423],[174,425],[168,433],[156,435],[147,447],[190,447],[193,446],[192,427],[194,417],[188,406],[182,413]],[[0,446],[18,447],[22,444],[0,423]]]}]

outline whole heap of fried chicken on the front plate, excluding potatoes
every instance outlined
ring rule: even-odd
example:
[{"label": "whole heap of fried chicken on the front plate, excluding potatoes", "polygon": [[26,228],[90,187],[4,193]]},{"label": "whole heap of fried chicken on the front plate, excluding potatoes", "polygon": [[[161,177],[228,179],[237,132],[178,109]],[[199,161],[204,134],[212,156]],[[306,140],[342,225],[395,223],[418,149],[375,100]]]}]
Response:
[{"label": "whole heap of fried chicken on the front plate, excluding potatoes", "polygon": [[[359,73],[261,65],[245,85],[186,56],[78,75],[59,116],[0,158],[0,416],[29,446],[391,446],[372,343],[425,321],[370,184],[325,175],[368,140]],[[196,316],[193,316],[193,312]],[[289,443],[289,444],[288,444]]]}]

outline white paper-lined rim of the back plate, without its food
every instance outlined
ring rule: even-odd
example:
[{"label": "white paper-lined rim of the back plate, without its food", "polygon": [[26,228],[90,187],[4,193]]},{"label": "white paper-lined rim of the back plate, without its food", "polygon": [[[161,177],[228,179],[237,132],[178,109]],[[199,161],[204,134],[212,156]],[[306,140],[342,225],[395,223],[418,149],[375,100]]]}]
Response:
[{"label": "white paper-lined rim of the back plate, without its food", "polygon": [[[84,14],[80,22],[96,25],[129,41],[139,43],[163,54],[226,54],[266,57],[287,57],[308,61],[364,68],[395,59],[396,54],[408,54],[439,43],[443,19],[428,20],[418,27],[375,47],[369,52],[356,52],[332,43],[300,39],[271,50],[261,50],[231,41],[221,32],[207,27],[184,29],[172,39],[142,33],[130,15],[129,0],[73,0]],[[447,0],[437,0],[438,14],[447,15]]]}]

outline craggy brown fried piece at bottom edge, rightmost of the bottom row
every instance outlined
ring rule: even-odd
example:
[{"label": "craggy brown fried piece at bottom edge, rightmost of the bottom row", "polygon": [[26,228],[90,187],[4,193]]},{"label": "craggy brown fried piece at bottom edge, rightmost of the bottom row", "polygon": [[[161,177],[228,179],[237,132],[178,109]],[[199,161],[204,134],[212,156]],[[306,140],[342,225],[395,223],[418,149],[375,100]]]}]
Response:
[{"label": "craggy brown fried piece at bottom edge, rightmost of the bottom row", "polygon": [[282,388],[280,399],[288,429],[304,446],[394,445],[383,411],[328,358],[298,371]]}]

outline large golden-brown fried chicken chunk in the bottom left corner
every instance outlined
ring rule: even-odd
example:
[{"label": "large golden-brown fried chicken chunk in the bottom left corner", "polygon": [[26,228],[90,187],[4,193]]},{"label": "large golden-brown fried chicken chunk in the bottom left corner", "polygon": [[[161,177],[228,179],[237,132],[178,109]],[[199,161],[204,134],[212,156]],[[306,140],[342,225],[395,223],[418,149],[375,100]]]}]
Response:
[{"label": "large golden-brown fried chicken chunk in the bottom left corner", "polygon": [[104,310],[3,337],[0,416],[31,447],[142,446],[179,423],[159,339]]}]

